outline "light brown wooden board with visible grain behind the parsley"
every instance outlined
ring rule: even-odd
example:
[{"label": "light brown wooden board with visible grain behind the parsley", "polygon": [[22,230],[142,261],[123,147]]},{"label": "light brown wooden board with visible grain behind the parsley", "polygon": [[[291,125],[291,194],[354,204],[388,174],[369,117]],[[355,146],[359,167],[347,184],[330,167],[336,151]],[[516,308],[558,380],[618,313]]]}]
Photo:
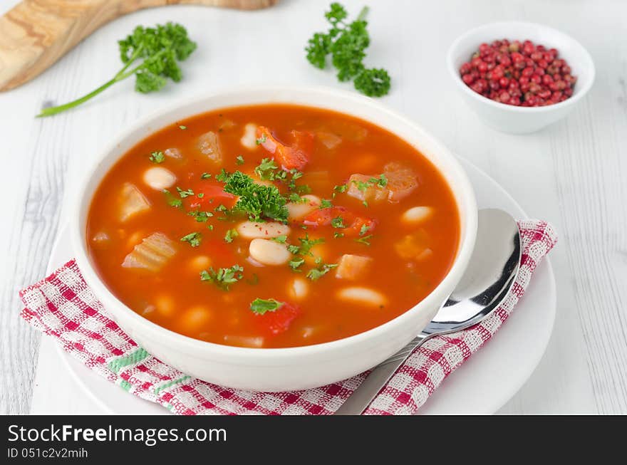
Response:
[{"label": "light brown wooden board with visible grain behind the parsley", "polygon": [[23,0],[0,18],[0,91],[26,83],[112,19],[176,4],[266,8],[279,0]]}]

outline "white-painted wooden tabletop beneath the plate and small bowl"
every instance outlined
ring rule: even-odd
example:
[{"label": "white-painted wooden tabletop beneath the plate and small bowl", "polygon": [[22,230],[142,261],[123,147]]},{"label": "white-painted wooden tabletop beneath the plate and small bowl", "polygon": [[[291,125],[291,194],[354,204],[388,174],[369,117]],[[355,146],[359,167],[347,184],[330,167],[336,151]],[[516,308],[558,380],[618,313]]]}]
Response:
[{"label": "white-painted wooden tabletop beneath the plate and small bowl", "polygon": [[[554,334],[534,375],[501,412],[627,413],[627,2],[343,4],[357,14],[364,2],[371,6],[368,63],[393,76],[385,104],[427,127],[506,187],[529,214],[559,231],[551,253],[558,288]],[[0,0],[0,13],[15,3]],[[17,293],[43,277],[68,199],[100,146],[137,117],[201,91],[239,83],[350,88],[304,58],[304,44],[323,28],[328,3],[284,0],[257,12],[195,6],[140,11],[101,28],[31,83],[0,93],[6,174],[0,202],[0,413],[97,412],[51,356],[50,341],[42,342],[21,321]],[[504,135],[484,126],[446,74],[445,51],[456,36],[502,19],[541,21],[566,31],[596,63],[596,83],[586,100],[566,120],[533,135]],[[184,24],[199,44],[183,66],[181,84],[140,95],[128,80],[79,110],[33,118],[43,103],[64,103],[108,80],[119,67],[116,41],[137,24],[170,20]]]}]

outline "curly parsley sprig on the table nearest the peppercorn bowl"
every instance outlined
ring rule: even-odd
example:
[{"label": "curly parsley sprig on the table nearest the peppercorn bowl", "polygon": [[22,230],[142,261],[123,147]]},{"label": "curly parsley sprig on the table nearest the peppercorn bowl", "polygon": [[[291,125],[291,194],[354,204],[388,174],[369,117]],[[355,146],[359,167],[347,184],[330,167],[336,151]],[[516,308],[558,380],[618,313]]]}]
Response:
[{"label": "curly parsley sprig on the table nearest the peppercorn bowl", "polygon": [[331,54],[331,63],[338,70],[338,80],[353,80],[359,92],[370,97],[380,97],[390,90],[390,75],[383,68],[368,69],[363,65],[370,36],[366,26],[368,7],[364,6],[357,19],[346,23],[348,12],[333,2],[324,16],[331,24],[327,33],[314,33],[305,50],[307,60],[316,68],[326,68],[326,56]]}]

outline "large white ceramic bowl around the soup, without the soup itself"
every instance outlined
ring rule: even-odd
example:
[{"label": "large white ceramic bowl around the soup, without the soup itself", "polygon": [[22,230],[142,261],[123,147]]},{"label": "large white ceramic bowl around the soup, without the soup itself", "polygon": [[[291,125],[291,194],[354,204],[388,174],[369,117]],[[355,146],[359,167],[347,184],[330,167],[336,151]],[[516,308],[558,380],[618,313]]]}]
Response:
[{"label": "large white ceramic bowl around the soup, without the soup itself", "polygon": [[[165,125],[218,108],[292,103],[348,113],[394,132],[418,148],[450,185],[460,211],[457,256],[442,282],[397,318],[349,338],[297,348],[254,349],[207,343],[162,328],[128,308],[101,281],[87,250],[87,214],[95,189],[131,147]],[[326,88],[254,87],[197,96],[161,110],[114,137],[86,172],[71,215],[73,251],[83,276],[120,328],[148,352],[182,372],[217,385],[257,391],[290,391],[344,380],[382,362],[420,333],[464,273],[477,234],[477,204],[455,157],[422,127],[371,98]],[[322,304],[322,303],[321,303]]]}]

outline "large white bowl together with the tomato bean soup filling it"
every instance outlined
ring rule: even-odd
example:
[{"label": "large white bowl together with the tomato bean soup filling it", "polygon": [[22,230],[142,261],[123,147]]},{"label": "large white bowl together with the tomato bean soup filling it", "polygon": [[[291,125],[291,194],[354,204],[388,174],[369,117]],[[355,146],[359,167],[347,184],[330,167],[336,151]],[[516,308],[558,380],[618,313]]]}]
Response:
[{"label": "large white bowl together with the tomato bean soup filling it", "polygon": [[148,352],[228,387],[368,370],[425,325],[477,229],[460,164],[380,103],[240,88],[137,122],[88,171],[78,266]]}]

